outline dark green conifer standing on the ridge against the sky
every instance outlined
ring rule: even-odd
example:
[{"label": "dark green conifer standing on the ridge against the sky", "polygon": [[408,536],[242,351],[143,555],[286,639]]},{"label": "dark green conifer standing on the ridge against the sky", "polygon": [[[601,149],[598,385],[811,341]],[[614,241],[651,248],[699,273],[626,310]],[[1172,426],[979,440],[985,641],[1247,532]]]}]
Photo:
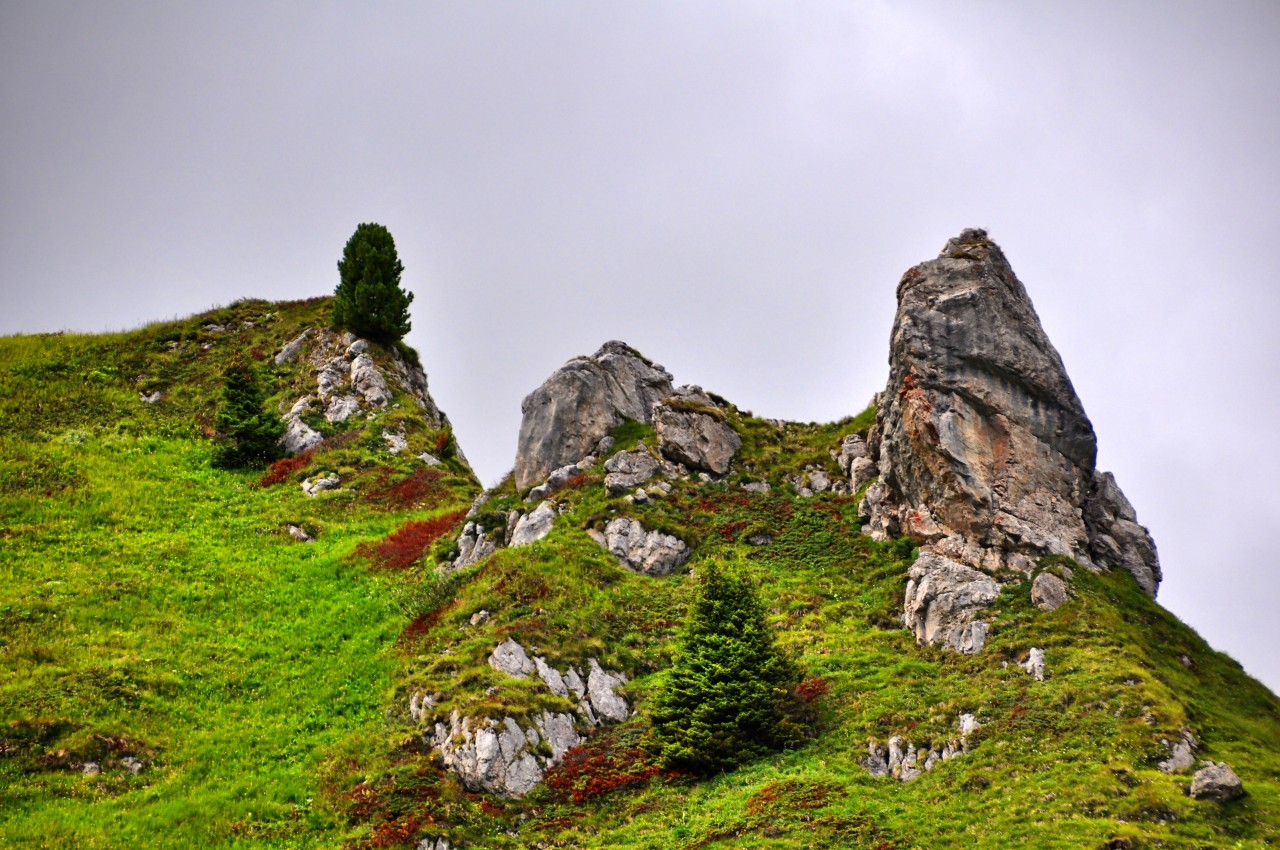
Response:
[{"label": "dark green conifer standing on the ridge against the sky", "polygon": [[413,293],[401,288],[402,271],[390,230],[381,224],[357,227],[338,262],[334,326],[388,344],[403,338]]}]

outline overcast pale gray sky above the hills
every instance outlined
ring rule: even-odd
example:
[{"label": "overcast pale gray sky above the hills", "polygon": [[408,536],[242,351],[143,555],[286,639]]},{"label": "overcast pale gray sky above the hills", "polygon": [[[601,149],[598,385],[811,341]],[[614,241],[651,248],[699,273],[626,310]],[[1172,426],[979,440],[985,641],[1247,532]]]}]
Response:
[{"label": "overcast pale gray sky above the hills", "polygon": [[492,483],[613,338],[856,412],[902,271],[986,227],[1161,600],[1276,690],[1277,44],[1275,3],[0,0],[0,333],[328,293],[379,221]]}]

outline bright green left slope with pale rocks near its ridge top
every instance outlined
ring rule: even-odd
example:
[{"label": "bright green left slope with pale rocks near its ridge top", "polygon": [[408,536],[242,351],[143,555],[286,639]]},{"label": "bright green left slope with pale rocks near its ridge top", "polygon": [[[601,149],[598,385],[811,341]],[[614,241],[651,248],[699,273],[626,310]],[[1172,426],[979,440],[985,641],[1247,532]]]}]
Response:
[{"label": "bright green left slope with pale rocks near its ridge top", "polygon": [[[479,486],[411,353],[328,306],[0,339],[0,844],[340,844],[317,771],[378,740],[416,605],[393,533]],[[210,466],[238,356],[308,443],[269,471]]]}]

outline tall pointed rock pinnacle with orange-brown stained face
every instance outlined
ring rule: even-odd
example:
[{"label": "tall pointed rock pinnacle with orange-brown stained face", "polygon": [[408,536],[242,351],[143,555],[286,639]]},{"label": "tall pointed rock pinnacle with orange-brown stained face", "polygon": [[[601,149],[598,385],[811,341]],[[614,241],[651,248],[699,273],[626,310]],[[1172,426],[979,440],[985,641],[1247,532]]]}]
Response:
[{"label": "tall pointed rock pinnacle with orange-brown stained face", "polygon": [[897,298],[868,531],[988,573],[1046,554],[1124,567],[1155,594],[1155,544],[1094,470],[1093,426],[1000,247],[965,230]]}]

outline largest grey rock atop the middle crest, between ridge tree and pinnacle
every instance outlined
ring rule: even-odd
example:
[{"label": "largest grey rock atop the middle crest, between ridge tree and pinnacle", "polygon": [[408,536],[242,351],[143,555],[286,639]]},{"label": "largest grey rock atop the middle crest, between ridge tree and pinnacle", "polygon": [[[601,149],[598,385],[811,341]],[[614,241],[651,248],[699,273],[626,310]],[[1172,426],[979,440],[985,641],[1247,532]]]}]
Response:
[{"label": "largest grey rock atop the middle crest, between ridge tree and pinnacle", "polygon": [[575,357],[525,397],[520,410],[516,486],[547,479],[585,457],[625,420],[648,422],[655,402],[672,392],[671,375],[621,342]]}]

